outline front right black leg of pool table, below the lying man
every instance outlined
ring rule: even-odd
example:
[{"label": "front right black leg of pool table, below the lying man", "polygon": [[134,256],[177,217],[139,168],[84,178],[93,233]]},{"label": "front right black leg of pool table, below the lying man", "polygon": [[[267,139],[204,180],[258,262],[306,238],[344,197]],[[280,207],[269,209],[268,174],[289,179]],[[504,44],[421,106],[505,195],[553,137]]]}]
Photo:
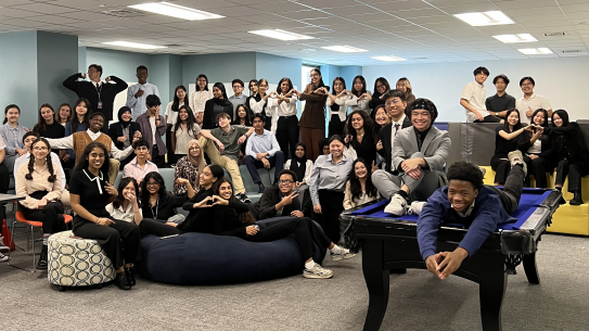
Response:
[{"label": "front right black leg of pool table, below the lying man", "polygon": [[478,296],[481,298],[481,319],[484,331],[501,331],[501,306],[508,287],[503,256],[490,254],[485,258],[486,267],[479,272]]}]

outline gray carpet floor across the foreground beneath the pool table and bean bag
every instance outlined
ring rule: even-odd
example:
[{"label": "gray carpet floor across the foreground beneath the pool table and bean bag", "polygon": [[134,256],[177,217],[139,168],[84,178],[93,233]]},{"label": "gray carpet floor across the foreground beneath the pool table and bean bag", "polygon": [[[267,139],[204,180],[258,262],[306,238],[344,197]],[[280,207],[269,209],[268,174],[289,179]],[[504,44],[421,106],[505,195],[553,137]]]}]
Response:
[{"label": "gray carpet floor across the foreground beneath the pool table and bean bag", "polygon": [[[23,243],[23,239],[18,238]],[[509,277],[503,330],[589,330],[589,239],[546,234],[540,242],[540,285],[522,267]],[[28,253],[13,263],[30,267]],[[0,264],[1,330],[361,330],[368,307],[361,256],[324,266],[330,280],[302,276],[222,287],[174,287],[138,279],[60,293],[47,272]],[[478,287],[424,270],[390,276],[381,330],[482,330]]]}]

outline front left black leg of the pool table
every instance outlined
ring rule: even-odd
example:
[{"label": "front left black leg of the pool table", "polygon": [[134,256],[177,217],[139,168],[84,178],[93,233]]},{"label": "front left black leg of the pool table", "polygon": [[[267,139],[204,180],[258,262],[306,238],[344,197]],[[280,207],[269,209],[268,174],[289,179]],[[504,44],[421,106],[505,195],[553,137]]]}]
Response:
[{"label": "front left black leg of the pool table", "polygon": [[362,243],[362,271],[368,288],[368,313],[364,331],[381,328],[388,305],[388,270],[383,270],[383,240],[364,240]]}]

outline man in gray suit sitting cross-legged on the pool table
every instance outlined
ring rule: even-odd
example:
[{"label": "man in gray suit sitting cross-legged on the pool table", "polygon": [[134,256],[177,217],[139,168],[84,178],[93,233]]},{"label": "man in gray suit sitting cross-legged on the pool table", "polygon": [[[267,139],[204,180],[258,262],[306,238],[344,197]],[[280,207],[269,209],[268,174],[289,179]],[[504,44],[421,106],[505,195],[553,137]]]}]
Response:
[{"label": "man in gray suit sitting cross-legged on the pool table", "polygon": [[393,144],[392,171],[376,170],[372,174],[376,189],[384,198],[390,199],[384,209],[386,213],[419,215],[427,198],[447,184],[443,166],[451,142],[448,131],[432,125],[436,117],[437,109],[432,101],[415,100],[411,104],[413,126],[400,130]]}]

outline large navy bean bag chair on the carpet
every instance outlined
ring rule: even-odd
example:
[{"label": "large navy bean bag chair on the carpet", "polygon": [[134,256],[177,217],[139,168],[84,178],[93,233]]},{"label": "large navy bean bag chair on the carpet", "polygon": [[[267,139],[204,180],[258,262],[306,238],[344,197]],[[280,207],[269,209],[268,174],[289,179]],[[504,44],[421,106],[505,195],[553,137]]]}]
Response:
[{"label": "large navy bean bag chair on the carpet", "polygon": [[[254,282],[300,275],[304,268],[292,237],[257,243],[236,237],[191,232],[164,240],[146,235],[141,246],[140,275],[168,284]],[[316,245],[313,260],[321,263],[325,252]]]}]

